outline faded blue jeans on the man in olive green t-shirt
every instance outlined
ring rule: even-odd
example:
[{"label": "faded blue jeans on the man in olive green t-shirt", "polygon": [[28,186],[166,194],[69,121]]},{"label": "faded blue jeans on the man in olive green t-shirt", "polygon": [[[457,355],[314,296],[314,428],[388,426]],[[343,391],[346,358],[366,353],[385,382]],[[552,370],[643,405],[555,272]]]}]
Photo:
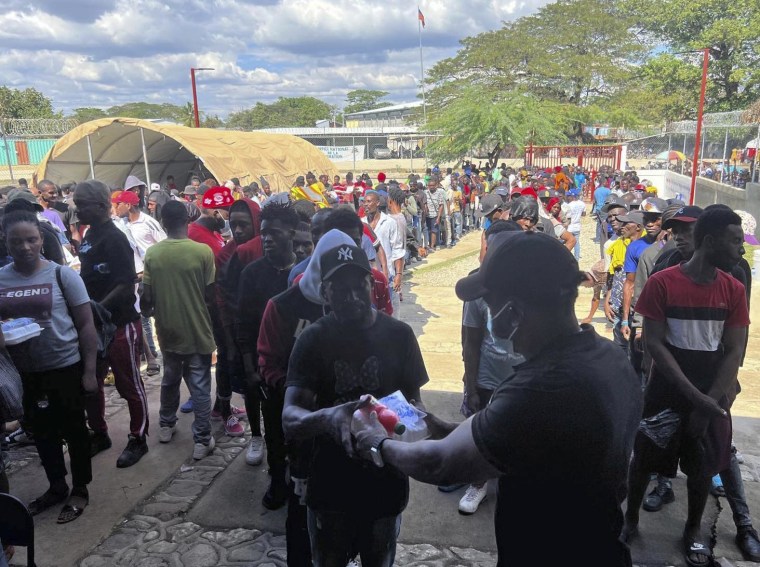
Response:
[{"label": "faded blue jeans on the man in olive green t-shirt", "polygon": [[179,385],[185,379],[193,400],[193,441],[208,445],[211,439],[211,355],[164,352],[164,376],[161,379],[161,427],[177,423]]}]

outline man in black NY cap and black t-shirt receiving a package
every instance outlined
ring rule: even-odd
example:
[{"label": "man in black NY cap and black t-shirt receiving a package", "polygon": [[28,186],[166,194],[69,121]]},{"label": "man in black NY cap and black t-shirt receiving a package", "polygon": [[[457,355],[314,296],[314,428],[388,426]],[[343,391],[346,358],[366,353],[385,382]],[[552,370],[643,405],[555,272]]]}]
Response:
[{"label": "man in black NY cap and black t-shirt receiving a package", "polygon": [[341,244],[319,260],[330,313],[296,341],[282,413],[287,439],[314,439],[306,496],[312,559],[343,567],[358,552],[364,565],[393,565],[409,479],[352,458],[349,423],[364,394],[400,390],[419,400],[427,371],[412,328],[372,309],[362,249]]}]

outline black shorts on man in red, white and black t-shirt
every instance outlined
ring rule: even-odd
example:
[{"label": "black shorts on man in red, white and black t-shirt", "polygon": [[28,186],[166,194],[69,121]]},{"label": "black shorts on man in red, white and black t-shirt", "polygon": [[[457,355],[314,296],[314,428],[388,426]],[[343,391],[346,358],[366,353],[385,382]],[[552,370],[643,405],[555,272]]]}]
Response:
[{"label": "black shorts on man in red, white and black t-shirt", "polygon": [[[644,417],[654,415],[644,413]],[[642,470],[668,477],[675,477],[680,463],[686,476],[713,477],[728,469],[731,460],[731,415],[714,417],[701,439],[687,433],[688,414],[682,414],[681,425],[665,449],[655,445],[641,432],[636,435],[633,446],[634,458]]]}]

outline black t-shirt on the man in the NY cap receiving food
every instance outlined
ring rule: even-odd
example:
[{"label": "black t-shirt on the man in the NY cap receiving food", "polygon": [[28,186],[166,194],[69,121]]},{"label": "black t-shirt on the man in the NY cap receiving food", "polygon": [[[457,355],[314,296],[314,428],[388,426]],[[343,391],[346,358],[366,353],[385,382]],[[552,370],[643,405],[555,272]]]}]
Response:
[{"label": "black t-shirt on the man in the NY cap receiving food", "polygon": [[[427,381],[422,353],[409,325],[378,313],[370,328],[349,331],[331,314],[298,337],[286,386],[313,391],[322,409],[362,394],[382,398],[396,390],[409,399]],[[406,475],[351,459],[331,438],[316,438],[307,496],[311,508],[382,518],[401,513],[408,500]]]}]

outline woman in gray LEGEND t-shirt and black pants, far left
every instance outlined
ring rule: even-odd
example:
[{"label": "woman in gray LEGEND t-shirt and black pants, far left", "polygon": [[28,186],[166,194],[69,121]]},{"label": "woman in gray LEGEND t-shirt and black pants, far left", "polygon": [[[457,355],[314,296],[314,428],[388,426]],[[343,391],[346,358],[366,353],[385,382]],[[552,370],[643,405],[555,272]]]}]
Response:
[{"label": "woman in gray LEGEND t-shirt and black pants, far left", "polygon": [[[40,255],[42,235],[33,213],[5,215],[3,232],[13,263],[0,269],[0,318],[30,317],[42,327],[38,337],[8,347],[24,386],[25,423],[34,432],[50,482],[50,488],[29,504],[29,510],[38,514],[65,501],[58,516],[58,523],[63,524],[84,511],[89,503],[87,484],[92,480],[84,414],[84,393],[98,391],[97,336],[90,300],[76,272]],[[71,494],[63,460],[64,440],[71,459]]]}]

